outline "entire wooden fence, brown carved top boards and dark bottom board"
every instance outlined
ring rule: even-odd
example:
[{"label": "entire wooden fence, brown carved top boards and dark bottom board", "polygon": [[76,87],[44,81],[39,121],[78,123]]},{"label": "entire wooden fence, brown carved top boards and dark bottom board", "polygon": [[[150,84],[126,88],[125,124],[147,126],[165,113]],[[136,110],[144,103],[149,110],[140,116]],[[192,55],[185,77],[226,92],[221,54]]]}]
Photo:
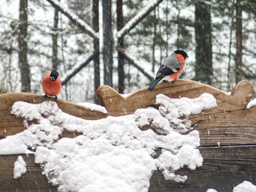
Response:
[{"label": "entire wooden fence, brown carved top boards and dark bottom board", "polygon": [[[88,120],[121,116],[134,113],[136,109],[155,104],[156,95],[164,93],[171,98],[195,98],[202,93],[211,93],[217,100],[217,108],[191,115],[189,119],[200,132],[200,153],[203,166],[191,171],[182,168],[177,173],[188,175],[186,182],[179,184],[165,180],[161,172],[155,172],[150,179],[150,192],[204,191],[214,188],[218,192],[232,191],[244,180],[256,184],[256,108],[246,109],[253,95],[253,85],[248,81],[238,83],[230,94],[195,81],[177,80],[175,83],[159,83],[152,91],[143,88],[127,98],[109,86],[100,86],[97,95],[108,113],[91,111],[77,104],[58,99],[59,108],[70,115]],[[10,113],[14,102],[29,103],[44,101],[42,95],[30,93],[7,93],[0,95],[0,139],[24,131],[21,118]],[[31,124],[33,122],[29,122]],[[74,138],[81,133],[63,132],[61,137]],[[0,156],[0,191],[57,191],[42,175],[35,164],[33,154],[22,154],[27,163],[27,172],[19,179],[13,179],[14,163],[18,154]]]}]

